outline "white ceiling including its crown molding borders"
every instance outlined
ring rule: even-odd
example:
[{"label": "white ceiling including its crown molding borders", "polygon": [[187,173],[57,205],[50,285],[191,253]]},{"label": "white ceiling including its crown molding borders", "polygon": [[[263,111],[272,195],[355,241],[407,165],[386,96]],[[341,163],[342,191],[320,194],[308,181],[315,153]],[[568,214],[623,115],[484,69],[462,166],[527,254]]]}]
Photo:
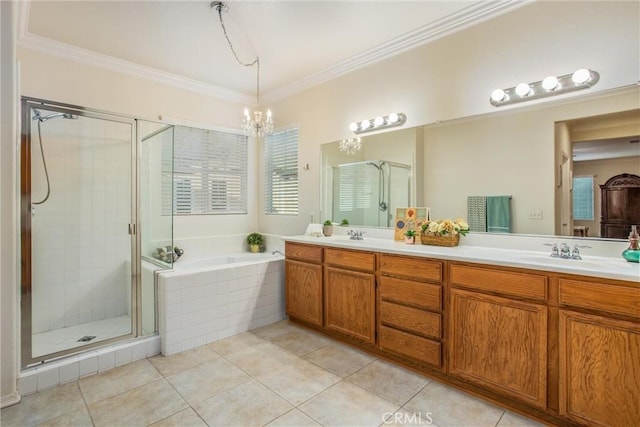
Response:
[{"label": "white ceiling including its crown molding borders", "polygon": [[[239,59],[260,57],[269,101],[529,2],[230,0],[223,20]],[[255,100],[256,69],[235,61],[210,1],[22,3],[24,47]]]}]

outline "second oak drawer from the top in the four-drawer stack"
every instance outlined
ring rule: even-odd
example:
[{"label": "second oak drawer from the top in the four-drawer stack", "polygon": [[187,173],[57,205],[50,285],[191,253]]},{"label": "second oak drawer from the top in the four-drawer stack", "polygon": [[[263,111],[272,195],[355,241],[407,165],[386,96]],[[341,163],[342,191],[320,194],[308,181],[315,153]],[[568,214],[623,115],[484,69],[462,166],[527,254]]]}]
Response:
[{"label": "second oak drawer from the top in the four-drawer stack", "polygon": [[441,310],[442,286],[382,276],[380,298],[427,310]]}]

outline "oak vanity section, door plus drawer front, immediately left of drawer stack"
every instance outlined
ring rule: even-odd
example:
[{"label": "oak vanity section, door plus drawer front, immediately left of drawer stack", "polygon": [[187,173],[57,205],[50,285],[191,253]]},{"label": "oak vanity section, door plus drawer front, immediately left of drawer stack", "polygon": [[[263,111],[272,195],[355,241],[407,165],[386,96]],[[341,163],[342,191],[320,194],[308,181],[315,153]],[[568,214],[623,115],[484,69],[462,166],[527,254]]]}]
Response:
[{"label": "oak vanity section, door plus drawer front, immediately left of drawer stack", "polygon": [[367,345],[376,341],[376,254],[325,249],[325,328]]}]

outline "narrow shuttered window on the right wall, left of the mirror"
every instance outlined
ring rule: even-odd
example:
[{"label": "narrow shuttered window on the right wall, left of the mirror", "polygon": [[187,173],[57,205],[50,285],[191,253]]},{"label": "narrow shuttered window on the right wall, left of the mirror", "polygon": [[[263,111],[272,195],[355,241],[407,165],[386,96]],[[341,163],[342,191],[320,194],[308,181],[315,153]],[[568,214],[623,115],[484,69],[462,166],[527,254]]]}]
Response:
[{"label": "narrow shuttered window on the right wall, left of the mirror", "polygon": [[298,214],[298,129],[265,138],[265,213]]}]

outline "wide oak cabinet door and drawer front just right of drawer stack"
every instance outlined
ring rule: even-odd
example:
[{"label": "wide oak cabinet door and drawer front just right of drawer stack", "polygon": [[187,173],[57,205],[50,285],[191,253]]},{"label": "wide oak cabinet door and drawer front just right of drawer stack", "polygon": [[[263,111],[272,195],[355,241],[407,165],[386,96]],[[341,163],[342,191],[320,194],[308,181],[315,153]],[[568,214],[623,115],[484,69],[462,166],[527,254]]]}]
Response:
[{"label": "wide oak cabinet door and drawer front just right of drawer stack", "polygon": [[451,375],[544,409],[547,278],[450,264]]}]

